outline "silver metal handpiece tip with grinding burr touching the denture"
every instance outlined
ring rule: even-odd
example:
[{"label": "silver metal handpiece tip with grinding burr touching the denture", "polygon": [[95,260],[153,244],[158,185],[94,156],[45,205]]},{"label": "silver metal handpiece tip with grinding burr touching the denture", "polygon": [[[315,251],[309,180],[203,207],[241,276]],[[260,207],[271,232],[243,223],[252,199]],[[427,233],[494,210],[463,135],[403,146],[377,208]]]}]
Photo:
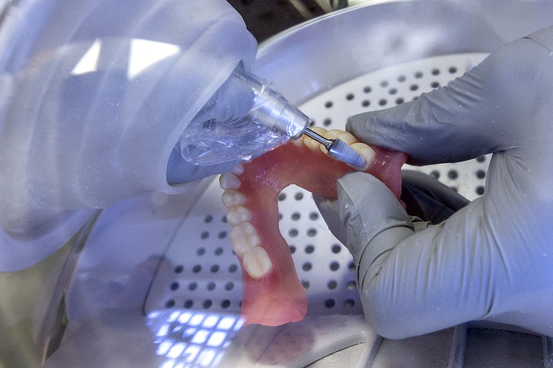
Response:
[{"label": "silver metal handpiece tip with grinding burr touching the denture", "polygon": [[290,104],[283,95],[269,88],[265,81],[246,72],[242,72],[240,77],[254,91],[254,107],[249,115],[256,122],[288,135],[292,139],[299,139],[305,134],[322,144],[330,157],[352,166],[362,167],[365,165],[365,159],[362,155],[359,155],[344,141],[327,139],[311,130],[309,126],[312,119],[302,113],[299,108]]}]

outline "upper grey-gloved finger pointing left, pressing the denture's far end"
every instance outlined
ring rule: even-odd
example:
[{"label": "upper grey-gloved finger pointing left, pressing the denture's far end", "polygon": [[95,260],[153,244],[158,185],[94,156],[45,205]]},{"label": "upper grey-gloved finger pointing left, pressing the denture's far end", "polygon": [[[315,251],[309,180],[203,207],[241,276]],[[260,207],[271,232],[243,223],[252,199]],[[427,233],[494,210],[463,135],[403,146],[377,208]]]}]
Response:
[{"label": "upper grey-gloved finger pointing left, pressing the denture's far end", "polygon": [[393,108],[350,117],[346,130],[363,142],[409,155],[410,164],[458,162],[493,152],[497,132],[482,120],[487,67]]}]

